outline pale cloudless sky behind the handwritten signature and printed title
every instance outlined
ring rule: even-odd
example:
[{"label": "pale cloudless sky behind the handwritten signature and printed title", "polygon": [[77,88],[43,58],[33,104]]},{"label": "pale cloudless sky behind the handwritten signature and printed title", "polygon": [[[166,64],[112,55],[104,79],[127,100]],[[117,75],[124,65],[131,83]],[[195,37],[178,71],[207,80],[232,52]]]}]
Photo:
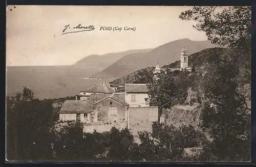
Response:
[{"label": "pale cloudless sky behind the handwritten signature and printed title", "polygon": [[[178,39],[207,40],[183,6],[8,6],[7,66],[72,65],[90,54],[155,48]],[[61,35],[65,25],[95,30]],[[122,31],[101,31],[101,26]],[[124,27],[135,31],[124,31]],[[68,30],[67,30],[68,31]]]}]

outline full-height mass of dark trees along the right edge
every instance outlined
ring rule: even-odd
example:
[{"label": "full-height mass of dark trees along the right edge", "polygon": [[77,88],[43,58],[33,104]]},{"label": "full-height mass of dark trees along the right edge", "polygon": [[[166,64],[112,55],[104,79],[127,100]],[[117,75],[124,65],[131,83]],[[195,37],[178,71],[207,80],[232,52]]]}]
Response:
[{"label": "full-height mass of dark trees along the right edge", "polygon": [[227,46],[202,78],[202,127],[214,138],[210,152],[219,160],[250,159],[250,109],[238,92],[239,79],[251,79],[251,7],[194,7],[180,14],[194,20],[215,44]]}]

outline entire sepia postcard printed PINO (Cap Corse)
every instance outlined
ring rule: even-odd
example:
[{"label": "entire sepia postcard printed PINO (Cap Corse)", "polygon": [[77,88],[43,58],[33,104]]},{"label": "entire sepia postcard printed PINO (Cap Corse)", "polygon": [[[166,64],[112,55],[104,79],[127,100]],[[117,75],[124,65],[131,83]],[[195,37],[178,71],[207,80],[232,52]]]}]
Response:
[{"label": "entire sepia postcard printed PINO (Cap Corse)", "polygon": [[6,8],[6,162],[251,162],[250,6]]}]

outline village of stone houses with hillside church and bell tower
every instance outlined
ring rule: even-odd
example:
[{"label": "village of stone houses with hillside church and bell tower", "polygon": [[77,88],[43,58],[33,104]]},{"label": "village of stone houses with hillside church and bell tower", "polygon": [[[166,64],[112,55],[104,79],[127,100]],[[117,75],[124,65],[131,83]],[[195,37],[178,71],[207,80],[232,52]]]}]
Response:
[{"label": "village of stone houses with hillside church and bell tower", "polygon": [[[181,50],[180,68],[169,68],[171,71],[189,71],[188,50]],[[157,64],[154,70],[154,79],[157,80],[157,73],[166,71]],[[118,129],[128,128],[133,134],[135,142],[140,143],[138,131],[146,130],[152,132],[152,123],[158,121],[159,106],[150,106],[146,101],[148,98],[148,84],[125,84],[113,86],[108,82],[101,81],[99,84],[82,90],[76,95],[75,100],[64,102],[56,101],[55,107],[59,107],[59,123],[68,121],[80,121],[83,123],[83,132],[109,131],[112,127]],[[193,98],[193,92],[188,90],[189,97]],[[187,99],[189,102],[190,99]],[[160,123],[165,125],[174,124],[180,126],[182,123],[197,126],[199,112],[194,106],[175,106],[174,110],[165,110],[160,116]],[[183,107],[183,108],[182,108]],[[188,115],[193,118],[188,118]],[[181,112],[181,113],[180,113]],[[172,117],[170,117],[171,115]],[[196,116],[194,116],[196,115]],[[179,117],[177,119],[177,117]]]}]

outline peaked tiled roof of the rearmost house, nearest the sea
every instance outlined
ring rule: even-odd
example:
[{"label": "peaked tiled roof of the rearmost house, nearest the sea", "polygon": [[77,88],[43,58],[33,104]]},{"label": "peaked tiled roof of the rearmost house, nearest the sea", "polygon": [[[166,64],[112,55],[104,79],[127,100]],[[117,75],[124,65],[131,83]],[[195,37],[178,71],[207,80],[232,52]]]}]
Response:
[{"label": "peaked tiled roof of the rearmost house, nearest the sea", "polygon": [[113,89],[111,89],[110,84],[106,82],[100,82],[99,84],[88,88],[87,90],[81,92],[89,92],[89,93],[113,93]]}]

